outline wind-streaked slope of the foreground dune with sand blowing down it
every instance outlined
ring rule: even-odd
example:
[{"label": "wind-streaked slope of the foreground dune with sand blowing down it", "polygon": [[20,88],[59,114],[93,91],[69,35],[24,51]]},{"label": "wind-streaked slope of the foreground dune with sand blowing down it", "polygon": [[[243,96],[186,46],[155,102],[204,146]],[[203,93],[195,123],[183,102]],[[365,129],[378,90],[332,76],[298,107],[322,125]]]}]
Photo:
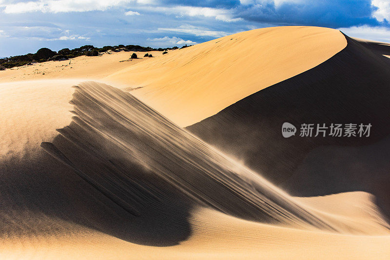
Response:
[{"label": "wind-streaked slope of the foreground dune with sand blowing down it", "polygon": [[334,229],[131,94],[95,82],[75,88],[72,123],[41,147],[130,214],[142,217],[148,201],[170,197],[150,188],[168,181],[176,200],[248,220]]}]

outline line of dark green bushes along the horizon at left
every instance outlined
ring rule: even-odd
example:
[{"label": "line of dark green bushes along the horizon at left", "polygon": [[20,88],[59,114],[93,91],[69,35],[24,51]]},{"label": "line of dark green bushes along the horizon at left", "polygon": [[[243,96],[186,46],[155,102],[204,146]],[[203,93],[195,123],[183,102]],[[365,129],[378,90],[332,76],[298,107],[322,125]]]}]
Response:
[{"label": "line of dark green bushes along the horizon at left", "polygon": [[[180,49],[189,47],[187,45],[182,46]],[[152,48],[152,47],[143,47],[139,45],[116,45],[116,46],[104,46],[102,48],[94,47],[93,45],[84,45],[75,49],[62,49],[58,52],[52,51],[49,48],[41,48],[36,53],[29,53],[26,55],[13,56],[9,58],[0,59],[0,70],[5,68],[19,67],[23,65],[31,64],[32,62],[45,62],[49,60],[68,60],[76,58],[78,56],[98,56],[100,53],[113,51],[133,51],[133,52],[149,52],[149,51],[167,51],[167,50],[176,50],[179,47],[175,46],[173,48]],[[153,57],[149,55],[149,57]]]}]

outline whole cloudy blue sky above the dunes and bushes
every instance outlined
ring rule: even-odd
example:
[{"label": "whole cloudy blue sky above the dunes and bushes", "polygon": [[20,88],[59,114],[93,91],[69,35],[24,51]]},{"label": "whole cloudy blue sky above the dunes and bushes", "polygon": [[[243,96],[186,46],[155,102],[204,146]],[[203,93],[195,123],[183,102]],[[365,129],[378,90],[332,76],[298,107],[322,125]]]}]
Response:
[{"label": "whole cloudy blue sky above the dunes and bushes", "polygon": [[281,25],[390,42],[390,0],[0,0],[0,57],[85,44],[172,47]]}]

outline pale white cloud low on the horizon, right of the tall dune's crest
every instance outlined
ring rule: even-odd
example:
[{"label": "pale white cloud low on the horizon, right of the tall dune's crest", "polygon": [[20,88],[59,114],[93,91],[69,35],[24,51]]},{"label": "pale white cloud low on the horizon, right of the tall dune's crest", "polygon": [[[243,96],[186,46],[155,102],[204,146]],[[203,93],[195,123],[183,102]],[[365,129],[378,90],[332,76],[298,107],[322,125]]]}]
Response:
[{"label": "pale white cloud low on the horizon, right of the tall dune's crest", "polygon": [[390,28],[386,27],[370,27],[363,25],[352,26],[350,28],[339,28],[339,30],[350,37],[390,42]]}]

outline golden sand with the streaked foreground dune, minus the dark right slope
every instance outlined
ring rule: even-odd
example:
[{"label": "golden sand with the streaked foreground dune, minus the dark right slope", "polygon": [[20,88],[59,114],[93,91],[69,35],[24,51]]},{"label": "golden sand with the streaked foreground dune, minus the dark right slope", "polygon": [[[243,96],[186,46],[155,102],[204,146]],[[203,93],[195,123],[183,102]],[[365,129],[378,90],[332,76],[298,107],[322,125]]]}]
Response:
[{"label": "golden sand with the streaked foreground dune, minus the dark right slope", "polygon": [[134,65],[120,52],[1,71],[0,258],[389,259],[370,193],[292,197],[180,128],[346,42],[275,27]]}]

